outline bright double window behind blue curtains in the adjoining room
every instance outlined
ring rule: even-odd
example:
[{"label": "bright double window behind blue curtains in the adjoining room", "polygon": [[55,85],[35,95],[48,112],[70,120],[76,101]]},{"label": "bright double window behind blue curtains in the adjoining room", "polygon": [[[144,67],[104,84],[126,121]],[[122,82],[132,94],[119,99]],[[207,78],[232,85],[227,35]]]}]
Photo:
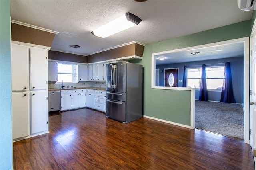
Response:
[{"label": "bright double window behind blue curtains in the adjoining room", "polygon": [[[201,83],[202,68],[187,68],[188,87],[199,89]],[[207,89],[221,90],[224,80],[224,66],[206,66]]]}]

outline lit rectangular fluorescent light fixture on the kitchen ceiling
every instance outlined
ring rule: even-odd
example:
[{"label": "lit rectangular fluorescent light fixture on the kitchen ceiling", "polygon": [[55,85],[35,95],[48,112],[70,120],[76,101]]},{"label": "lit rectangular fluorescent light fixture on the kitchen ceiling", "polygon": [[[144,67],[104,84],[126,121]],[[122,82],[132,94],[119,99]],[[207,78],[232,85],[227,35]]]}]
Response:
[{"label": "lit rectangular fluorescent light fixture on the kitchen ceiling", "polygon": [[102,25],[91,33],[94,36],[106,38],[110,35],[119,33],[121,31],[124,31],[125,29],[138,25],[141,21],[142,20],[140,18],[128,12],[123,16],[116,18],[115,20],[110,21],[105,25]]}]

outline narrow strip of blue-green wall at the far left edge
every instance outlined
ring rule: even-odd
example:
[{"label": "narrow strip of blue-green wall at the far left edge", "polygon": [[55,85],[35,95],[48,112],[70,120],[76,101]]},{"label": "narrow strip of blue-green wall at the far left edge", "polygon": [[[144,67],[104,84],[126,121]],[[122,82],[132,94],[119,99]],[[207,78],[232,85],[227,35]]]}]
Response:
[{"label": "narrow strip of blue-green wall at the far left edge", "polygon": [[0,169],[12,169],[10,2],[0,0]]}]

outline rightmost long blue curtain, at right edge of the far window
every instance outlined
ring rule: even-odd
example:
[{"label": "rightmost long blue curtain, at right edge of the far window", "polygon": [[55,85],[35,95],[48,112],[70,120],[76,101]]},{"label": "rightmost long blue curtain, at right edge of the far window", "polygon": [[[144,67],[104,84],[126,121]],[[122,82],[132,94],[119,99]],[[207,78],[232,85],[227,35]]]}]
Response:
[{"label": "rightmost long blue curtain, at right edge of the far window", "polygon": [[220,102],[236,103],[236,100],[233,94],[230,62],[225,63],[224,80],[223,80]]}]

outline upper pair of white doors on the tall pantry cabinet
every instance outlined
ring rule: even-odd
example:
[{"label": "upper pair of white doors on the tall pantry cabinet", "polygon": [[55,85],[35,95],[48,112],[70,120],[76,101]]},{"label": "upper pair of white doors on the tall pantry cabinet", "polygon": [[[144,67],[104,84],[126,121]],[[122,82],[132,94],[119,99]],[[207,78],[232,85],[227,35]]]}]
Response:
[{"label": "upper pair of white doors on the tall pantry cabinet", "polygon": [[45,68],[47,49],[12,44],[12,91],[46,90],[48,72]]}]

